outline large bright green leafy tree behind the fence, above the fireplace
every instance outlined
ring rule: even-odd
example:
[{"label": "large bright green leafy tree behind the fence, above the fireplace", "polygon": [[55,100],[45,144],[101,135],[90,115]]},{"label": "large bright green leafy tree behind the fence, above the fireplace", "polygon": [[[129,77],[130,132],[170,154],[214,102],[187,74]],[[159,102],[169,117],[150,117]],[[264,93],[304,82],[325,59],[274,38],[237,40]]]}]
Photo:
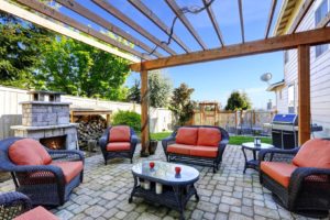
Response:
[{"label": "large bright green leafy tree behind the fence, above the fireplace", "polygon": [[38,88],[68,95],[124,100],[122,87],[129,75],[125,59],[77,42],[56,36],[43,52]]}]

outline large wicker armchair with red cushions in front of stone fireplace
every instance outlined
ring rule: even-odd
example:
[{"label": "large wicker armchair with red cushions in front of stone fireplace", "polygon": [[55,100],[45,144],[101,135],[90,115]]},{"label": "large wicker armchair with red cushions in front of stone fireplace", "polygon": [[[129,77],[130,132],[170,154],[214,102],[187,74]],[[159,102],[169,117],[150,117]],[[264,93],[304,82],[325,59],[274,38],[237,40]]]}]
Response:
[{"label": "large wicker armchair with red cushions in front of stone fireplace", "polygon": [[[43,155],[47,163],[42,163],[41,157],[32,160],[31,155]],[[25,161],[18,163],[18,160]],[[58,206],[67,201],[72,190],[82,182],[84,161],[79,151],[51,151],[31,139],[0,141],[0,170],[11,173],[16,191],[29,196],[33,205]]]}]

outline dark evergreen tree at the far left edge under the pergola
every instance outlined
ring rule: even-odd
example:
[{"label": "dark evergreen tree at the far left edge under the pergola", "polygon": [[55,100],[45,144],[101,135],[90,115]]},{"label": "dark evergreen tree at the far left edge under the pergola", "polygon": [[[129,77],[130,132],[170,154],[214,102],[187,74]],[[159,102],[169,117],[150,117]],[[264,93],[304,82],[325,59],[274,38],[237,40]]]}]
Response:
[{"label": "dark evergreen tree at the far left edge under the pergola", "polygon": [[0,12],[0,81],[32,88],[33,72],[52,34],[43,28]]}]

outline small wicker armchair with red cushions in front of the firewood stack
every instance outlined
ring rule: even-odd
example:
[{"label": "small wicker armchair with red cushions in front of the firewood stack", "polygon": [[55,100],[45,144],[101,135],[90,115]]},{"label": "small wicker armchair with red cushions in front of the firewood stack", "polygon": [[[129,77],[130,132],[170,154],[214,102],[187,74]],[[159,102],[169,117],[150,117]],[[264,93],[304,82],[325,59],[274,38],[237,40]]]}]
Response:
[{"label": "small wicker armchair with red cushions in front of the firewood stack", "polygon": [[105,164],[107,165],[108,160],[116,157],[130,158],[133,163],[138,141],[134,130],[130,127],[109,127],[99,140]]}]

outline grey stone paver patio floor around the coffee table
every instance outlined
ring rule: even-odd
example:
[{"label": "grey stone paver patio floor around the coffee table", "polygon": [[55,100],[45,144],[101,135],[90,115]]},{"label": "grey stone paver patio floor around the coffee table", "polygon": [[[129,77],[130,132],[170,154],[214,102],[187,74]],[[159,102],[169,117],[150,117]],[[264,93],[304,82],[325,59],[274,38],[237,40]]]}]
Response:
[{"label": "grey stone paver patio floor around the coffee table", "polygon": [[[161,145],[156,154],[147,158],[141,158],[139,153],[140,147],[136,147],[134,163],[165,161]],[[105,166],[101,155],[88,157],[84,183],[74,190],[69,201],[52,211],[61,219],[177,219],[178,212],[166,207],[139,198],[128,202],[133,187],[131,167],[129,160],[113,160]],[[186,207],[186,219],[306,219],[276,205],[270,191],[260,185],[257,172],[248,169],[243,174],[241,146],[227,146],[217,174],[208,167],[195,167],[200,172],[197,183],[200,200],[197,204],[191,198]],[[0,184],[0,190],[14,190],[12,180]]]}]

